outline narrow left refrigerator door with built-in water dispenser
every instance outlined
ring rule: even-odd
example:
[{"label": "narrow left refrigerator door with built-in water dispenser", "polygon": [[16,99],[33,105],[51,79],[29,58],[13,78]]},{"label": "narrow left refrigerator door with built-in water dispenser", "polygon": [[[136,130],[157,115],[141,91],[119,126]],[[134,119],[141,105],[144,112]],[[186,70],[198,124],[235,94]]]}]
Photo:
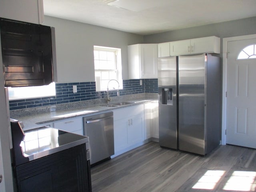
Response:
[{"label": "narrow left refrigerator door with built-in water dispenser", "polygon": [[176,57],[158,59],[159,144],[177,149]]}]

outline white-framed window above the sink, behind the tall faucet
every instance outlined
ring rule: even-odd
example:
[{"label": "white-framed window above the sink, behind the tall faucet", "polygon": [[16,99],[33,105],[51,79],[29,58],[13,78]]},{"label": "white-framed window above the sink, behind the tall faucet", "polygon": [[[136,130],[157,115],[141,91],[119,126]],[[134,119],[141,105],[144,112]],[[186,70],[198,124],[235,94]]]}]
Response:
[{"label": "white-framed window above the sink, behind the tall faucet", "polygon": [[[123,88],[121,49],[94,46],[94,70],[96,91],[116,90]],[[114,79],[108,85],[109,80]]]}]

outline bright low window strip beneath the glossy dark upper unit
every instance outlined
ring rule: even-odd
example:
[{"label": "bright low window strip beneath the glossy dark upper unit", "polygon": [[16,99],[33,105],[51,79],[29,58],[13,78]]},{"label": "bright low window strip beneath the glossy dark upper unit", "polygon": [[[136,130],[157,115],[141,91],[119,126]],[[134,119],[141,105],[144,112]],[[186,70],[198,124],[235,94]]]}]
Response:
[{"label": "bright low window strip beneath the glossy dark upper unit", "polygon": [[44,86],[8,87],[9,100],[55,96],[55,83]]}]

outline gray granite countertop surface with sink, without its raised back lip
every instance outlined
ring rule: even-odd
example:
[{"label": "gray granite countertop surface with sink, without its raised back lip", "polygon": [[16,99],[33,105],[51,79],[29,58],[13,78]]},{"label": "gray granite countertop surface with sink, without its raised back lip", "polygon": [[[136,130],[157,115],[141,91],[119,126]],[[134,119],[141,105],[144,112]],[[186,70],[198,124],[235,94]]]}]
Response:
[{"label": "gray granite countertop surface with sink, without its raised back lip", "polygon": [[[110,104],[114,104],[116,102],[124,102],[123,101],[113,101]],[[15,115],[11,114],[11,118],[19,120],[24,124],[24,130],[30,130],[32,128],[38,128],[42,124],[47,124],[50,122],[66,120],[68,118],[76,118],[76,117],[83,117],[88,116],[91,114],[102,113],[107,111],[116,110],[119,108],[135,106],[139,104],[145,104],[147,102],[157,102],[156,98],[133,98],[130,100],[125,100],[125,102],[131,102],[130,104],[122,105],[122,106],[114,106],[108,107],[106,103],[99,103],[89,106],[82,106],[78,108],[69,108],[65,110],[53,110],[50,112],[40,112],[40,113],[33,113],[30,115],[21,114]]]}]

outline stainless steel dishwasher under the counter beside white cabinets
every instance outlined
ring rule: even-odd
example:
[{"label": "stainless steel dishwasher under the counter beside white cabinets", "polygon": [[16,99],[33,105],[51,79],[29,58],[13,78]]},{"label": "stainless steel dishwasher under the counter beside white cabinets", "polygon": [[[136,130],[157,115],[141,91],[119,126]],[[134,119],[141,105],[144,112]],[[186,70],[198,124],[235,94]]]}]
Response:
[{"label": "stainless steel dishwasher under the counter beside white cabinets", "polygon": [[83,118],[84,135],[89,137],[90,164],[114,155],[113,112]]}]

